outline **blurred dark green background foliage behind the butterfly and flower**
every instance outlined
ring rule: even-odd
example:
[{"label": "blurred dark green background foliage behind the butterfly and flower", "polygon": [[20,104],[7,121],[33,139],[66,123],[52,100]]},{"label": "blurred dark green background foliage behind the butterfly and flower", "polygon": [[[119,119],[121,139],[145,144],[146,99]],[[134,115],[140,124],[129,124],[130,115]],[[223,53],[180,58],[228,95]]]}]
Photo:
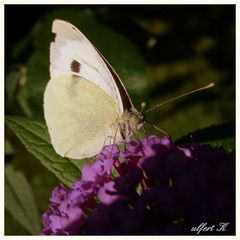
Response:
[{"label": "blurred dark green background foliage behind the butterfly and flower", "polygon": [[[12,16],[18,19],[17,25]],[[49,80],[49,44],[54,39],[51,24],[55,18],[70,21],[100,50],[121,77],[137,109],[142,101],[150,108],[215,82],[214,88],[166,104],[146,118],[174,140],[205,129],[207,137],[196,139],[212,143],[214,139],[213,144],[227,150],[235,146],[233,5],[6,5],[8,115],[44,120],[43,91]],[[207,128],[212,125],[220,127]],[[151,124],[146,124],[146,129],[147,134],[161,135]],[[227,129],[231,134],[222,140],[221,133]],[[42,214],[59,180],[27,152],[8,127],[5,136],[6,162],[26,176]],[[5,218],[5,234],[27,234],[8,212]]]}]

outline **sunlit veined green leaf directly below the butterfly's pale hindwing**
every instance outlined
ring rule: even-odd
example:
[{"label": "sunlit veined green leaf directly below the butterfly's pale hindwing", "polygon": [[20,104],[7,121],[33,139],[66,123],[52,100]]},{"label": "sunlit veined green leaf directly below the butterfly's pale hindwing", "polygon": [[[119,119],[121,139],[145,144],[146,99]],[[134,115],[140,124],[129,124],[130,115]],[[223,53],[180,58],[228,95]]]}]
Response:
[{"label": "sunlit veined green leaf directly below the butterfly's pale hindwing", "polygon": [[53,149],[47,127],[39,122],[17,116],[7,116],[6,123],[20,138],[27,150],[52,171],[61,182],[71,186],[80,177],[79,169]]}]

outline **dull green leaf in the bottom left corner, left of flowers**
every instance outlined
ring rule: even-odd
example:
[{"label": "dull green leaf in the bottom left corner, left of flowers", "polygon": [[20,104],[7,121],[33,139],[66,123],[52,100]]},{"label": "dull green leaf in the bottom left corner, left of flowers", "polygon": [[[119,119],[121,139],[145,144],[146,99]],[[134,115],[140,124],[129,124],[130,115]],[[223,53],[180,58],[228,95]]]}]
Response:
[{"label": "dull green leaf in the bottom left corner, left of flowers", "polygon": [[24,175],[10,165],[5,169],[5,207],[31,234],[40,233],[40,218],[31,187]]}]

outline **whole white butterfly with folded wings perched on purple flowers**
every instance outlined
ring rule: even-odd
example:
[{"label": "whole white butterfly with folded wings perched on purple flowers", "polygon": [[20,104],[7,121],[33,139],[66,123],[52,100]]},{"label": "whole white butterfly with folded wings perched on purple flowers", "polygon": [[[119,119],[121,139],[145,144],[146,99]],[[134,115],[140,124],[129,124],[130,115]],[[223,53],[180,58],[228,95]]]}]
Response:
[{"label": "whole white butterfly with folded wings perched on purple flowers", "polygon": [[136,133],[143,116],[106,59],[72,24],[54,20],[52,31],[44,116],[55,151],[91,157]]}]

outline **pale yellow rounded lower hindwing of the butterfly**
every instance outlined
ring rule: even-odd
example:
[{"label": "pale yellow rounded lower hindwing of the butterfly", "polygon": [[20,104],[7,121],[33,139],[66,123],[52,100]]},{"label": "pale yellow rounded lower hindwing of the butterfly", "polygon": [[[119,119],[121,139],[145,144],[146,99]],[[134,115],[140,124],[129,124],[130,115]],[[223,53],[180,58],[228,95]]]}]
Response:
[{"label": "pale yellow rounded lower hindwing of the butterfly", "polygon": [[[119,118],[117,103],[85,78],[53,77],[44,93],[44,115],[55,151],[81,159],[113,143]],[[118,131],[115,142],[121,141]]]}]

